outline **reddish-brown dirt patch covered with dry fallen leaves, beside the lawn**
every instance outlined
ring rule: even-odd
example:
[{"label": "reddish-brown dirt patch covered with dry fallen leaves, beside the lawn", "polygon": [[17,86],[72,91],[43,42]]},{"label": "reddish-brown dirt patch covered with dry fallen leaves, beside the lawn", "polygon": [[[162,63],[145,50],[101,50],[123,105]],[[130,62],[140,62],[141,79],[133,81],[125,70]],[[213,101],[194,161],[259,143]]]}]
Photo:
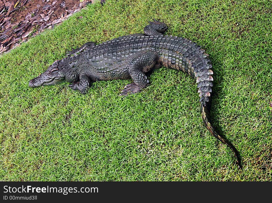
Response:
[{"label": "reddish-brown dirt patch covered with dry fallen leaves, beside the lawn", "polygon": [[0,54],[52,29],[91,2],[95,0],[0,0]]}]

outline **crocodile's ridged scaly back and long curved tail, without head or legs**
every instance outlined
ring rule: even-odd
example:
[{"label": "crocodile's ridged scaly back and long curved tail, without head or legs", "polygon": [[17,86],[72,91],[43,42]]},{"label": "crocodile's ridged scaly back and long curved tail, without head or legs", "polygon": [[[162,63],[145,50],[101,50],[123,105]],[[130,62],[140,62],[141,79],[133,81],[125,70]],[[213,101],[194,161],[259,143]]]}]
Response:
[{"label": "crocodile's ridged scaly back and long curved tail, without head or legs", "polygon": [[[134,34],[106,41],[88,50],[89,61],[98,71],[116,72],[127,65],[128,59],[133,58],[143,50],[155,51],[158,62],[168,68],[181,70],[195,78],[200,97],[200,112],[202,121],[209,132],[218,140],[229,146],[234,152],[241,168],[240,156],[236,148],[225,137],[220,136],[210,118],[210,101],[213,86],[213,71],[210,58],[204,49],[182,37],[176,36],[145,36]],[[109,60],[107,60],[109,59]],[[130,77],[124,76],[123,79]],[[112,78],[116,79],[116,78]]]}]

